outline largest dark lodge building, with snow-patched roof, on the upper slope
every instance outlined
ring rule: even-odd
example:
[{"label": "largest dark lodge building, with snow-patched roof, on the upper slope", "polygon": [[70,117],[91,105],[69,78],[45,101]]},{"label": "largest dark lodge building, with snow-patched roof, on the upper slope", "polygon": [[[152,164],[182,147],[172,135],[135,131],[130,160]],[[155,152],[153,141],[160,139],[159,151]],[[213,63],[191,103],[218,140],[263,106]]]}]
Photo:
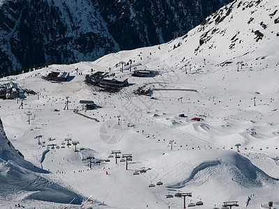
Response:
[{"label": "largest dark lodge building, with snow-patched roof, on the upper slope", "polygon": [[102,88],[120,90],[128,85],[128,79],[116,79],[108,72],[95,72],[92,75],[86,75],[85,81],[89,84],[100,86]]}]

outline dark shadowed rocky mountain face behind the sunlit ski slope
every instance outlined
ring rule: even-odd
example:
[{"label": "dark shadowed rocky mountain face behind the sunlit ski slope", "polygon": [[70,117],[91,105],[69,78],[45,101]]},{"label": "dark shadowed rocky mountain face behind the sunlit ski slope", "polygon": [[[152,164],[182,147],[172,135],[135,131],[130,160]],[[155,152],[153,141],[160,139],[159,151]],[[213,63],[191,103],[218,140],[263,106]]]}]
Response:
[{"label": "dark shadowed rocky mountain face behind the sunlit ski slope", "polygon": [[230,1],[2,0],[0,73],[167,42]]}]

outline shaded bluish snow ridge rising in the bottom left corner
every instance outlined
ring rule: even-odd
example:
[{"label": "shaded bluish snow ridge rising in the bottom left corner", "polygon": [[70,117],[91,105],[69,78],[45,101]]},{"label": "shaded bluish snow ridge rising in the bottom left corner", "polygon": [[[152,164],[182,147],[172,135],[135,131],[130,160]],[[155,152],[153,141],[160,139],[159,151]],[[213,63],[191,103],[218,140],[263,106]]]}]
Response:
[{"label": "shaded bluish snow ridge rising in the bottom left corner", "polygon": [[[3,131],[1,122],[0,136],[0,193],[1,199],[10,201],[22,201],[22,199],[33,199],[51,201],[57,203],[68,203],[74,197],[73,203],[80,204],[82,196],[72,190],[47,179],[40,173],[48,171],[33,166],[24,160],[20,151],[15,150],[13,144],[8,141]],[[12,192],[13,191],[13,192]],[[29,192],[28,195],[16,195],[20,192]]]}]

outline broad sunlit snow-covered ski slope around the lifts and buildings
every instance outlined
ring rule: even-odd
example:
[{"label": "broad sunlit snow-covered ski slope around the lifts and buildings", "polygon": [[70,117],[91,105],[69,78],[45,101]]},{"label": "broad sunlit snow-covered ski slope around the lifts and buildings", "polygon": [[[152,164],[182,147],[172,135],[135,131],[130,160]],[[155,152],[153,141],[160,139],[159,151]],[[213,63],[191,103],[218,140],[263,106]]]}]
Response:
[{"label": "broad sunlit snow-covered ski slope around the lifts and buildings", "polygon": [[[0,102],[8,139],[26,160],[50,171],[45,176],[90,197],[87,208],[182,208],[183,199],[166,198],[177,192],[192,192],[187,205],[201,199],[204,205],[195,208],[222,208],[224,201],[247,209],[273,201],[278,208],[276,10],[275,1],[234,1],[167,44],[3,78],[39,93],[26,95],[24,109],[15,100]],[[123,72],[120,61],[128,63]],[[131,77],[130,68],[159,75]],[[68,82],[41,78],[56,69],[70,72]],[[84,75],[98,70],[111,70],[130,85],[112,93],[85,84]],[[139,87],[152,95],[136,95]],[[66,97],[69,110],[63,110]],[[80,100],[93,100],[98,109],[85,111]],[[191,120],[197,117],[202,121]],[[39,134],[42,144],[34,139]],[[105,143],[104,135],[114,136],[114,143]],[[78,152],[66,146],[69,137],[80,142]],[[128,170],[114,158],[100,162],[112,150],[133,155]],[[92,168],[89,157],[95,158]],[[142,169],[146,173],[133,175]],[[160,181],[163,185],[149,187]],[[43,199],[36,203],[56,206]]]}]

